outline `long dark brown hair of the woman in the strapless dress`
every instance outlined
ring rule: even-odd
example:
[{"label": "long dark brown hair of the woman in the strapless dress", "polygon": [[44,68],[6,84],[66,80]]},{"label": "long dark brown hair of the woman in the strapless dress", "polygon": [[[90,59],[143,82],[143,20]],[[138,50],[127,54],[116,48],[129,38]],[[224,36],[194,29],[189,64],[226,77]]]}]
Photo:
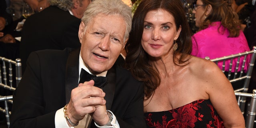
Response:
[{"label": "long dark brown hair of the woman in the strapless dress", "polygon": [[173,54],[173,61],[178,60],[174,61],[175,64],[187,62],[192,51],[192,32],[180,0],[142,0],[140,2],[132,19],[132,30],[125,50],[127,52],[126,68],[130,70],[136,80],[144,82],[145,99],[154,94],[161,82],[159,73],[149,64],[148,54],[141,46],[145,16],[149,11],[158,9],[164,9],[172,14],[177,31],[180,26],[182,28],[180,36],[176,40],[178,49]]}]

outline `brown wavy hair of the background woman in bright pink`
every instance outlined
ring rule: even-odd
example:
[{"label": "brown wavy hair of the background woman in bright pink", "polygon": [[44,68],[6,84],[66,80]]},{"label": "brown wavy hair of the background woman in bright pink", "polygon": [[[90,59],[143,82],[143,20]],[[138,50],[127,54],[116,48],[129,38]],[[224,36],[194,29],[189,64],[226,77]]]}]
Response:
[{"label": "brown wavy hair of the background woman in bright pink", "polygon": [[[212,6],[212,10],[204,22],[199,26],[199,30],[207,28],[212,22],[220,21],[222,26],[228,29],[230,33],[228,37],[239,36],[241,22],[231,6],[233,0],[202,0],[202,2],[204,5],[210,4]],[[203,8],[207,8],[207,6],[204,6]],[[218,32],[224,32],[223,30],[220,30],[220,26]]]}]

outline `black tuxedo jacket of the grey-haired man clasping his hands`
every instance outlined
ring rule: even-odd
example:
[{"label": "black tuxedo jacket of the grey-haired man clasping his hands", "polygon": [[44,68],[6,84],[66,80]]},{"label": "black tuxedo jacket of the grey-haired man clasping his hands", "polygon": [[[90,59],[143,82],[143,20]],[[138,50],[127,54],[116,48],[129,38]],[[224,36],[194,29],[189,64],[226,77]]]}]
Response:
[{"label": "black tuxedo jacket of the grey-haired man clasping his hands", "polygon": [[[30,54],[13,94],[11,128],[54,128],[56,111],[69,102],[71,89],[78,86],[79,52],[66,48]],[[115,65],[106,77],[106,107],[114,113],[120,128],[145,128],[143,84]]]}]

